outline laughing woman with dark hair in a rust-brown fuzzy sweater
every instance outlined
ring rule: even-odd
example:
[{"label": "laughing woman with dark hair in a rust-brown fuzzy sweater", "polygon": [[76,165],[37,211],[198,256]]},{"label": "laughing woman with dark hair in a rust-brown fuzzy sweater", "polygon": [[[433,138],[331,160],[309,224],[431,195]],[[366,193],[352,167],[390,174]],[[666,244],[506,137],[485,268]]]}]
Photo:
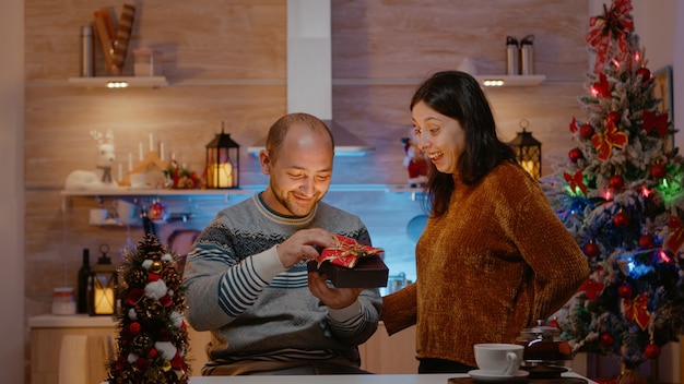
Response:
[{"label": "laughing woman with dark hair in a rust-brown fuzzy sweater", "polygon": [[570,299],[589,266],[497,137],[471,75],[434,74],[411,112],[431,160],[431,216],[415,248],[416,283],[384,298],[382,320],[389,335],[417,324],[418,373],[463,373],[475,369],[473,345],[514,343]]}]

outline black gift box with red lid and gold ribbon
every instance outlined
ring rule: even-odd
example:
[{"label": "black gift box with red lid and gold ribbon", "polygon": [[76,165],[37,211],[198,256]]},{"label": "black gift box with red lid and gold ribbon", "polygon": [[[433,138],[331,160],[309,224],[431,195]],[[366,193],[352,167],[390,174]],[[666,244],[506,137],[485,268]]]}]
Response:
[{"label": "black gift box with red lid and gold ribbon", "polygon": [[389,268],[382,261],[384,252],[338,235],[335,247],[323,249],[318,261],[308,263],[308,269],[318,271],[337,288],[387,287]]}]

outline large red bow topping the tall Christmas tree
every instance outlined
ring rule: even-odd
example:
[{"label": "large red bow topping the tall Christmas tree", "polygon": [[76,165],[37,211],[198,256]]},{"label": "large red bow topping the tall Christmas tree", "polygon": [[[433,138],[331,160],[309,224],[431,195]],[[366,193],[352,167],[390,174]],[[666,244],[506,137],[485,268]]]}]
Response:
[{"label": "large red bow topping the tall Christmas tree", "polygon": [[589,19],[589,32],[585,38],[597,50],[594,73],[603,72],[613,40],[617,44],[616,59],[622,61],[627,56],[627,35],[634,29],[634,21],[629,14],[632,9],[629,0],[615,0],[610,9],[603,5],[603,15]]}]

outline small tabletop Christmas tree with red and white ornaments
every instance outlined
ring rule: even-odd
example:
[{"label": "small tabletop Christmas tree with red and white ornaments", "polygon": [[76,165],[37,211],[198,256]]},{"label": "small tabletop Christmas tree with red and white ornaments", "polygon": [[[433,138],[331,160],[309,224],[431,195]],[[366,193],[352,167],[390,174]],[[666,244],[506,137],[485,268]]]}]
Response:
[{"label": "small tabletop Christmas tree with red and white ornaments", "polygon": [[119,274],[121,310],[116,314],[118,353],[108,383],[187,383],[186,308],[178,256],[145,235],[126,252]]}]

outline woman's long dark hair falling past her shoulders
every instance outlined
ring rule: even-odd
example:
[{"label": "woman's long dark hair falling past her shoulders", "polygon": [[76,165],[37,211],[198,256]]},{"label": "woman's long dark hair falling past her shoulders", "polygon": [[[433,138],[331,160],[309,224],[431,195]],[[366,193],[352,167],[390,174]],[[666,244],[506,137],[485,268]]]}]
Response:
[{"label": "woman's long dark hair falling past her shoulders", "polygon": [[[470,74],[458,71],[433,74],[413,94],[411,110],[420,101],[458,120],[465,131],[465,149],[458,159],[463,183],[476,184],[502,161],[517,163],[515,151],[498,139],[490,101]],[[434,216],[446,213],[453,188],[453,177],[439,172],[431,163],[425,190]]]}]

